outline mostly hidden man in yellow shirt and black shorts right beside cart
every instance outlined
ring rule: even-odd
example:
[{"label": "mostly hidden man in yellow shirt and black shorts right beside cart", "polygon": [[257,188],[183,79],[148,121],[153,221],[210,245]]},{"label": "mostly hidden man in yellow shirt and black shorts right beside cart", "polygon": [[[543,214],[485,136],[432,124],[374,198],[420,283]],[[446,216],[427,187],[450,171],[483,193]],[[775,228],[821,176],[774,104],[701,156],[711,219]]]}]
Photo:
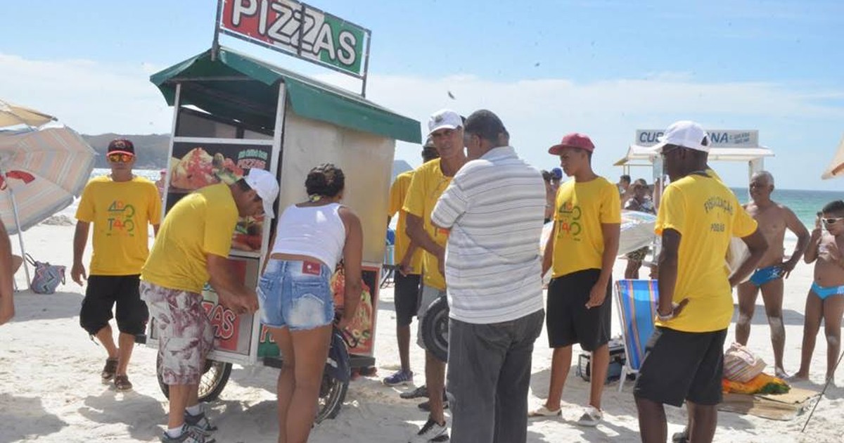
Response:
[{"label": "mostly hidden man in yellow shirt and black shorts right beside cart", "polygon": [[[422,163],[428,163],[438,158],[434,142],[428,138],[422,147]],[[413,321],[416,311],[419,309],[419,292],[422,276],[422,251],[414,245],[407,234],[407,216],[403,210],[404,200],[408,195],[410,181],[414,177],[414,171],[408,170],[396,176],[396,180],[390,186],[390,208],[387,214],[387,224],[398,212],[396,223],[396,257],[398,258],[398,269],[395,275],[395,288],[393,299],[396,304],[396,339],[398,340],[398,359],[402,368],[384,378],[387,386],[404,385],[413,383],[414,372],[410,370],[410,322]]]}]

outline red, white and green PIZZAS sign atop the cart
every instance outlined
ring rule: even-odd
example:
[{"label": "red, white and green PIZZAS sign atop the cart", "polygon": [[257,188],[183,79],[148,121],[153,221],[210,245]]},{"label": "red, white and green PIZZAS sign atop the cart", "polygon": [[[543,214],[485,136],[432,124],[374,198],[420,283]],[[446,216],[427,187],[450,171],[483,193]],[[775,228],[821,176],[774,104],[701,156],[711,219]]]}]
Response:
[{"label": "red, white and green PIZZAS sign atop the cart", "polygon": [[220,2],[225,35],[365,77],[369,30],[295,0]]}]

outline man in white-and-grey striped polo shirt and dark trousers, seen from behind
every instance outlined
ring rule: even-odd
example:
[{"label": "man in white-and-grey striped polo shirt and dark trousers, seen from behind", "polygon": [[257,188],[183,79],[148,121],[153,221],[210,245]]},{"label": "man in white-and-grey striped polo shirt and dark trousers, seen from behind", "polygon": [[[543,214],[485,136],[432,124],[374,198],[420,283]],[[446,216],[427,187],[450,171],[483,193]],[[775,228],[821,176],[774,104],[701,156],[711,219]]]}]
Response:
[{"label": "man in white-and-grey striped polo shirt and dark trousers, seen from behind", "polygon": [[490,111],[466,119],[470,161],[431,214],[451,230],[448,392],[452,439],[461,443],[527,439],[531,355],[544,320],[544,181],[505,144],[504,133]]}]

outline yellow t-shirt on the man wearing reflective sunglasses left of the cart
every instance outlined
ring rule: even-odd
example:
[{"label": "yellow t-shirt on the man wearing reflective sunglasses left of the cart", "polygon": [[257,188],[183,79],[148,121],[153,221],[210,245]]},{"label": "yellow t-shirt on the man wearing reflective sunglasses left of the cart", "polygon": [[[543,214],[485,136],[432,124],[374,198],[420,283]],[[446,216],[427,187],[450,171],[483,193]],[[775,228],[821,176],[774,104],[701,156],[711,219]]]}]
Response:
[{"label": "yellow t-shirt on the man wearing reflective sunglasses left of the cart", "polygon": [[159,224],[161,200],[152,181],[91,179],[76,219],[94,224],[90,275],[137,275],[149,256],[149,224]]}]

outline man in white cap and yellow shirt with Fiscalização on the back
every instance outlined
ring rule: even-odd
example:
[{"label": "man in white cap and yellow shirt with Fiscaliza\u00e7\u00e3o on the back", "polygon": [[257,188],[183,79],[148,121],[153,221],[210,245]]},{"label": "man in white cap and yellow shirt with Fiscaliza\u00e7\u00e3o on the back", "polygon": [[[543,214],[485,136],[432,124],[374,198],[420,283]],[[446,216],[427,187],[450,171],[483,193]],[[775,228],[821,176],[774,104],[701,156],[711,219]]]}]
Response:
[{"label": "man in white cap and yellow shirt with Fiscaliza\u00e7\u00e3o on the back", "polygon": [[[706,171],[709,138],[695,122],[675,122],[655,149],[671,178],[657,213],[659,304],[636,380],[641,440],[664,442],[663,404],[689,409],[689,441],[715,435],[721,402],[723,344],[733,317],[731,288],[751,273],[767,249],[756,222],[727,186]],[[724,257],[735,235],[750,256],[728,279]],[[679,300],[675,302],[674,300]]]}]

